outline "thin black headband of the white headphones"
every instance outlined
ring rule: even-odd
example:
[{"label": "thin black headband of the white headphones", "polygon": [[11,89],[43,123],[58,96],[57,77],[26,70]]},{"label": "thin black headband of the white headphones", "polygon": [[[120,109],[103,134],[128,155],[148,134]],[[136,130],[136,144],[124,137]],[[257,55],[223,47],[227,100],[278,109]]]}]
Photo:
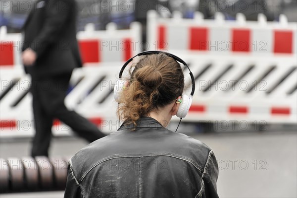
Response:
[{"label": "thin black headband of the white headphones", "polygon": [[194,92],[195,92],[195,79],[194,79],[194,75],[191,71],[191,69],[189,68],[189,66],[186,64],[186,62],[184,62],[181,58],[173,55],[173,54],[170,54],[168,52],[162,52],[162,51],[145,51],[145,52],[141,52],[139,54],[137,54],[136,56],[132,57],[131,59],[129,59],[121,68],[120,70],[120,73],[119,73],[119,78],[122,78],[122,74],[124,72],[124,69],[126,68],[126,66],[131,62],[133,61],[133,59],[137,56],[143,56],[143,55],[150,55],[150,54],[160,54],[160,53],[165,53],[167,56],[173,58],[175,61],[177,62],[180,62],[181,64],[183,64],[184,66],[186,66],[189,71],[190,71],[190,76],[191,76],[191,80],[192,80],[192,91],[191,91],[191,96],[194,95]]}]

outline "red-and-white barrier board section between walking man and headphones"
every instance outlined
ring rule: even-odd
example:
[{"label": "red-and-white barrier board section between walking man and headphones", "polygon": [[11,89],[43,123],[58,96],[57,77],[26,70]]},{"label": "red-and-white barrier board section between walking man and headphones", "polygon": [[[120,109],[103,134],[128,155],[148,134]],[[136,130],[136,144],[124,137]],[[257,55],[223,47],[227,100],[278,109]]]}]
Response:
[{"label": "red-and-white barrier board section between walking man and headphones", "polygon": [[93,24],[88,24],[85,31],[77,33],[84,64],[128,61],[141,52],[141,34],[138,22],[132,22],[128,30],[117,30],[115,23],[109,23],[106,30],[95,31]]}]

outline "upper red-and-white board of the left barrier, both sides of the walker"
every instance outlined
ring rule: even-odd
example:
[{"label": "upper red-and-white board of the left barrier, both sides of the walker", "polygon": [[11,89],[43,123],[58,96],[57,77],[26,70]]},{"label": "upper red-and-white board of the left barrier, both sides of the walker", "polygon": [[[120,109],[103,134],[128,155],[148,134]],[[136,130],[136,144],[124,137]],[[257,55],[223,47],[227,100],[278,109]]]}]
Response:
[{"label": "upper red-and-white board of the left barrier, both sides of the walker", "polygon": [[[141,24],[138,22],[131,23],[127,30],[117,30],[115,23],[109,23],[106,30],[96,31],[93,24],[87,24],[85,31],[77,33],[77,38],[84,64],[123,62],[141,52]],[[21,66],[22,45],[20,33],[7,34],[6,27],[2,26],[0,66]]]}]

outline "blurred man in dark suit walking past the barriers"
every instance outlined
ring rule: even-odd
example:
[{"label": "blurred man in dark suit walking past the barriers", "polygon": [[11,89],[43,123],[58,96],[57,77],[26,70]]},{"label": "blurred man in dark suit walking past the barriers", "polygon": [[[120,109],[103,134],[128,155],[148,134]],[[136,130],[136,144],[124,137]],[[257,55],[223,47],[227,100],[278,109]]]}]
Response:
[{"label": "blurred man in dark suit walking past the barriers", "polygon": [[105,136],[64,99],[72,70],[81,67],[76,39],[74,0],[39,0],[23,26],[22,60],[32,77],[35,136],[31,155],[48,156],[53,119],[57,118],[89,142]]}]

